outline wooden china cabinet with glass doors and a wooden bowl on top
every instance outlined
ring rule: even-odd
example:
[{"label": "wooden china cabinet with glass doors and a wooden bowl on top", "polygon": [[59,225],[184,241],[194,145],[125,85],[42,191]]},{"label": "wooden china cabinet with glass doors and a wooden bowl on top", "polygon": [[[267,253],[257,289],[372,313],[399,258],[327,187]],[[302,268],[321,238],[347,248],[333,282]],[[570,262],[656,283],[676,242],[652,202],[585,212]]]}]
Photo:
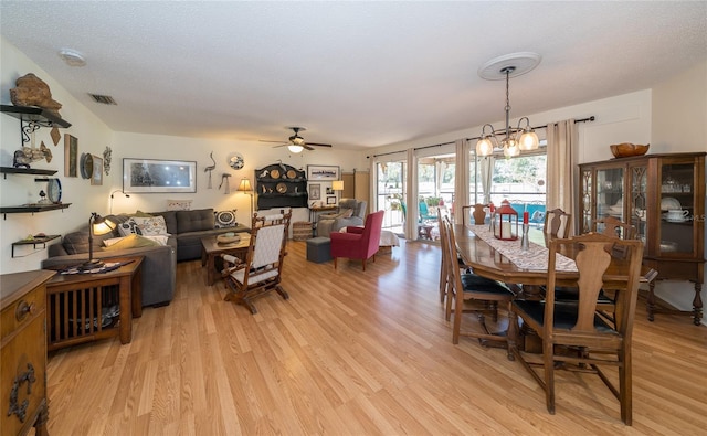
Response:
[{"label": "wooden china cabinet with glass doors and a wooden bowl on top", "polygon": [[580,233],[601,231],[594,220],[615,216],[636,228],[644,244],[643,264],[657,279],[695,285],[693,310],[658,307],[654,287],[647,297],[648,319],[657,312],[680,312],[700,322],[705,281],[705,152],[647,155],[582,163]]}]

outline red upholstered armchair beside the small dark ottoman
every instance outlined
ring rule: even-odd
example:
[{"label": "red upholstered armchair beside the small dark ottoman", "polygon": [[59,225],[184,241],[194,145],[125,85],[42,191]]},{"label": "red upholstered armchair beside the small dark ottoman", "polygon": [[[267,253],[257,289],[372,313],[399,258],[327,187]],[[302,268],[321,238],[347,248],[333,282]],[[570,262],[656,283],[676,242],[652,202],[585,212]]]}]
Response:
[{"label": "red upholstered armchair beside the small dark ottoman", "polygon": [[336,259],[346,257],[349,259],[363,260],[363,270],[366,270],[366,260],[373,257],[376,262],[376,253],[380,244],[380,230],[383,225],[384,211],[378,211],[366,217],[363,227],[346,227],[346,233],[334,232],[329,235],[331,238],[331,257],[334,257],[334,269],[336,269]]}]

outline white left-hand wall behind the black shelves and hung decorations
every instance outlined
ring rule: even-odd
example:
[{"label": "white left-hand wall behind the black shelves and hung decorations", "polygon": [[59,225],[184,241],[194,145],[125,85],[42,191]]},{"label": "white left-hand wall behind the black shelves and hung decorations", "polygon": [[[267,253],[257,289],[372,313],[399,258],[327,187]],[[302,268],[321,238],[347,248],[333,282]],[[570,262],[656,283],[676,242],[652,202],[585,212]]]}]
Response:
[{"label": "white left-hand wall behind the black shelves and hung decorations", "polygon": [[[11,104],[10,88],[15,86],[14,81],[18,77],[34,73],[46,82],[52,91],[52,97],[63,105],[60,110],[62,118],[72,124],[67,129],[60,129],[62,139],[56,146],[50,137],[49,128],[41,128],[36,131],[35,147],[39,148],[43,141],[51,149],[53,158],[50,163],[44,160],[32,163],[32,168],[57,170],[53,177],[61,179],[62,201],[72,204],[63,211],[0,216],[0,273],[8,274],[36,269],[40,267],[41,260],[46,257],[46,251],[30,254],[31,246],[22,246],[15,251],[15,255],[27,256],[12,258],[11,244],[13,242],[24,238],[28,234],[40,232],[64,234],[68,228],[87,224],[91,211],[103,212],[105,199],[108,196],[109,187],[107,183],[104,182],[102,187],[92,187],[87,179],[64,177],[64,134],[71,134],[78,138],[80,156],[87,152],[102,157],[106,146],[113,146],[113,131],[86,107],[77,104],[49,74],[4,39],[0,39],[0,65],[2,66],[0,68],[0,102],[2,104]],[[0,164],[11,167],[14,150],[21,147],[20,120],[1,114]],[[113,171],[116,171],[115,168]],[[34,176],[10,174],[7,179],[0,179],[0,202],[6,206],[35,203],[40,199],[40,190],[46,190],[46,183],[34,182]]]}]

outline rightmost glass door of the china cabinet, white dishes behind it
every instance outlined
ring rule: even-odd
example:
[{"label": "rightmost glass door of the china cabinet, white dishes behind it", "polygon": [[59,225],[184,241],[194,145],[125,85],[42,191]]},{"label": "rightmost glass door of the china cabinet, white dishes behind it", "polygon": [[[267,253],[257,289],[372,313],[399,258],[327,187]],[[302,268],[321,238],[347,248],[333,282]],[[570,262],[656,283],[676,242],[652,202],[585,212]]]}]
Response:
[{"label": "rightmost glass door of the china cabinet, white dishes behind it", "polygon": [[663,255],[693,254],[695,214],[695,166],[661,161],[661,246]]}]

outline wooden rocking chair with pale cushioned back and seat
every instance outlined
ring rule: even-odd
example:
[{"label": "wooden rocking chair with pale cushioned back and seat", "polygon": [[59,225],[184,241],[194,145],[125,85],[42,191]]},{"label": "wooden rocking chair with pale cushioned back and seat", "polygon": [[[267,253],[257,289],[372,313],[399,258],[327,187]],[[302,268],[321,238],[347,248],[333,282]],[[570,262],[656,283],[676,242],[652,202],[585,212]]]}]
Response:
[{"label": "wooden rocking chair with pale cushioned back and seat", "polygon": [[221,255],[224,266],[221,275],[230,290],[224,298],[226,301],[245,306],[255,315],[257,309],[253,300],[271,290],[276,290],[284,299],[289,298],[279,284],[291,219],[292,210],[277,215],[253,214],[251,245],[245,260]]}]

